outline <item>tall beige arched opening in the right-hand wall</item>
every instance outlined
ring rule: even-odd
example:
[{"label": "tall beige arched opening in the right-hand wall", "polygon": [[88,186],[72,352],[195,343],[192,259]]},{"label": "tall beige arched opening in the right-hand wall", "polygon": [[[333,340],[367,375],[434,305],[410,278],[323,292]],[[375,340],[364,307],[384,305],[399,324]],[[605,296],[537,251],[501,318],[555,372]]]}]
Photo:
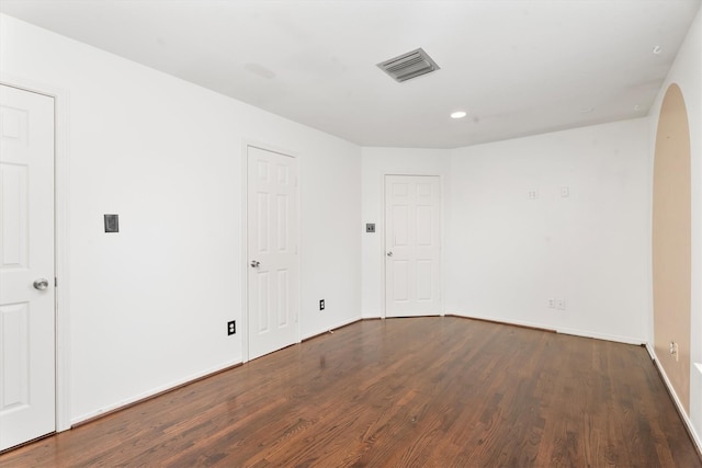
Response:
[{"label": "tall beige arched opening in the right-hand wall", "polygon": [[[690,132],[682,92],[671,84],[656,132],[653,205],[654,344],[690,411]],[[675,346],[672,345],[675,344]],[[675,353],[671,353],[675,351]]]}]

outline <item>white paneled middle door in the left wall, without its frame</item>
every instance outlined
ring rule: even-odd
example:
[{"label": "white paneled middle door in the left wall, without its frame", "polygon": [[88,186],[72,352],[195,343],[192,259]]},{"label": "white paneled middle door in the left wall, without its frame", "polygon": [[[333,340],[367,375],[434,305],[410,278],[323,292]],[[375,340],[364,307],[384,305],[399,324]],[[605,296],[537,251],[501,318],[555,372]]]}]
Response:
[{"label": "white paneled middle door in the left wall, without its frame", "polygon": [[249,359],[298,341],[297,161],[248,147]]}]

